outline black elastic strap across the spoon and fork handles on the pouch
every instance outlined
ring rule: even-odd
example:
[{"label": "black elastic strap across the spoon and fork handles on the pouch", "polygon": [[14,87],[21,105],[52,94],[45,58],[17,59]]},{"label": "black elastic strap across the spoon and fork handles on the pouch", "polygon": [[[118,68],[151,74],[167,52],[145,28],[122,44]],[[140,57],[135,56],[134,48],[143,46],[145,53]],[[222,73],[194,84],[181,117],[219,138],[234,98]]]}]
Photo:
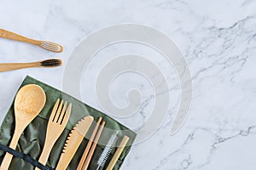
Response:
[{"label": "black elastic strap across the spoon and fork handles on the pouch", "polygon": [[42,170],[54,170],[54,168],[44,166],[39,161],[34,160],[31,156],[27,156],[26,154],[20,153],[17,150],[13,150],[12,148],[9,148],[8,146],[5,146],[3,144],[0,144],[0,150],[3,150],[3,151],[8,152],[9,154],[11,154],[15,157],[23,159],[24,161],[27,161],[27,162],[31,163],[34,167],[38,167]]}]

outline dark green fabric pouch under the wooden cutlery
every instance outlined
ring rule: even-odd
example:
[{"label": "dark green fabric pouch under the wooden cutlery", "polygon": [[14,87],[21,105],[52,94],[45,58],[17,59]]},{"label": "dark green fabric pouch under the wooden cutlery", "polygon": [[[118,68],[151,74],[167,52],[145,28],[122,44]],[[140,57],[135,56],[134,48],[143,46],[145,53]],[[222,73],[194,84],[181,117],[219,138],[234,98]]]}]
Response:
[{"label": "dark green fabric pouch under the wooden cutlery", "polygon": [[[27,156],[31,156],[33,159],[38,160],[39,156],[42,152],[44,146],[44,139],[46,135],[46,128],[49,120],[50,113],[55,105],[55,101],[57,99],[64,99],[67,100],[68,103],[73,104],[73,109],[69,121],[67,123],[67,127],[64,132],[61,134],[61,137],[55,143],[53,149],[51,150],[49,159],[47,161],[47,166],[49,167],[56,167],[59,158],[61,156],[61,151],[63,146],[66,142],[68,133],[72,130],[73,126],[79,122],[81,118],[84,116],[93,116],[95,122],[90,127],[89,132],[86,134],[82,144],[79,146],[79,150],[77,150],[75,156],[73,156],[73,160],[70,162],[69,166],[67,167],[68,170],[74,170],[79,165],[80,157],[84,153],[84,149],[86,144],[88,143],[88,139],[90,137],[90,133],[92,132],[94,125],[98,118],[102,116],[102,120],[106,122],[106,128],[104,128],[102,132],[101,139],[99,140],[99,144],[96,146],[96,151],[92,157],[90,162],[89,170],[95,170],[97,167],[97,161],[99,156],[102,154],[102,150],[104,150],[106,142],[111,136],[111,130],[113,129],[119,131],[119,138],[117,144],[121,141],[124,135],[129,136],[130,140],[125,147],[125,150],[122,152],[122,155],[119,157],[115,167],[113,169],[119,169],[122,163],[125,160],[125,157],[128,155],[129,151],[131,150],[131,145],[136,138],[136,133],[131,131],[129,128],[121,125],[119,122],[113,120],[113,118],[103,114],[101,111],[97,111],[96,109],[90,107],[89,105],[85,105],[84,103],[80,102],[78,99],[74,99],[72,96],[68,94],[64,94],[61,91],[52,88],[43,82],[39,82],[38,80],[33,79],[32,77],[26,77],[24,82],[22,82],[21,87],[25,86],[26,84],[38,84],[41,88],[44,89],[46,94],[46,104],[44,109],[40,112],[40,114],[26,127],[25,131],[20,136],[19,144],[16,147],[16,150],[20,151],[21,153],[25,153]],[[3,124],[0,128],[0,144],[9,145],[10,140],[12,139],[12,135],[15,130],[15,111],[14,111],[14,102],[10,106],[7,115],[3,120]],[[106,162],[106,167],[108,166],[109,161],[114,154],[114,150],[112,150],[108,161]],[[3,161],[4,152],[0,150],[0,162]],[[18,169],[26,169],[32,170],[33,167],[30,163],[20,159],[13,157],[9,170],[18,170]]]}]

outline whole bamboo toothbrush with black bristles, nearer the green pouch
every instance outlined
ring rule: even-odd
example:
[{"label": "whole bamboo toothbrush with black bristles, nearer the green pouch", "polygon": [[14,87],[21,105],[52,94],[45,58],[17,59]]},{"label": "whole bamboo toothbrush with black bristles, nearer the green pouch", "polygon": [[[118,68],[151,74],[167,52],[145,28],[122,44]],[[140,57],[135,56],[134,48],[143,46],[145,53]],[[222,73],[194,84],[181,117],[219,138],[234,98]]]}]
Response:
[{"label": "whole bamboo toothbrush with black bristles, nearer the green pouch", "polygon": [[56,67],[61,65],[62,65],[61,59],[46,59],[43,61],[32,62],[32,63],[2,63],[0,64],[0,72],[14,71],[14,70],[32,68],[32,67]]}]

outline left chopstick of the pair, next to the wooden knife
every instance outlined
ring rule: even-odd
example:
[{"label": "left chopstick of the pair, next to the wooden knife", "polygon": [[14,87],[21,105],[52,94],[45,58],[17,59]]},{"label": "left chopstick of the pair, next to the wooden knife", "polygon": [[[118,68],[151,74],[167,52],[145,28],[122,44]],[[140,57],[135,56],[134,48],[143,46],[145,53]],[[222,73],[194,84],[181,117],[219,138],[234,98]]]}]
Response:
[{"label": "left chopstick of the pair, next to the wooden knife", "polygon": [[93,130],[93,132],[92,132],[92,134],[91,134],[91,136],[90,136],[90,140],[89,140],[89,142],[88,142],[88,144],[87,144],[87,146],[86,146],[86,148],[85,148],[85,150],[84,150],[84,154],[83,154],[83,156],[81,157],[81,160],[80,160],[80,162],[79,162],[79,166],[77,167],[77,170],[82,170],[82,167],[83,167],[83,165],[84,165],[84,161],[85,161],[86,157],[88,156],[88,153],[89,153],[89,151],[90,151],[90,146],[91,146],[91,144],[93,143],[93,140],[94,140],[94,138],[95,138],[95,136],[96,136],[96,132],[97,132],[98,127],[100,126],[100,123],[101,123],[101,122],[102,122],[102,117],[100,117],[100,118],[98,119],[98,122],[96,123],[96,127],[94,128],[94,130]]}]

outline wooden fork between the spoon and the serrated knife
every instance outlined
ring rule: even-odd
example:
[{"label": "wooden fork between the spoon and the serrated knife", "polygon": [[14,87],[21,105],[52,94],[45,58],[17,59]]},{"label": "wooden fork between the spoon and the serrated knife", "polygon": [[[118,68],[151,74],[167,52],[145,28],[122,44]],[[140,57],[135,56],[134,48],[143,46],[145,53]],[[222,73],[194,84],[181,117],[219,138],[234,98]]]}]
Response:
[{"label": "wooden fork between the spoon and the serrated knife", "polygon": [[[72,104],[68,105],[67,107],[67,101],[64,105],[63,100],[61,101],[60,105],[59,103],[60,99],[57,99],[53,111],[51,112],[51,115],[49,117],[46,138],[44,142],[44,149],[39,158],[39,162],[42,163],[43,165],[46,164],[50,150],[54,146],[56,140],[61,136],[61,133],[64,131],[67,125],[68,118],[70,116]],[[36,167],[35,170],[39,170],[39,168]]]}]

